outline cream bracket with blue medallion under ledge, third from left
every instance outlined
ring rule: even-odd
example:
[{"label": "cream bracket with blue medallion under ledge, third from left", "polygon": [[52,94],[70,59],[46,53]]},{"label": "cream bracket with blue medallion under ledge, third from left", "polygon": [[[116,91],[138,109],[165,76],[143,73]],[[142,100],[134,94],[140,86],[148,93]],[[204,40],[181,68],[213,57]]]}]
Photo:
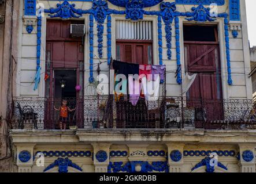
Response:
[{"label": "cream bracket with blue medallion under ledge, third from left", "polygon": [[168,164],[170,173],[182,173],[183,148],[181,143],[166,143],[168,147]]}]

